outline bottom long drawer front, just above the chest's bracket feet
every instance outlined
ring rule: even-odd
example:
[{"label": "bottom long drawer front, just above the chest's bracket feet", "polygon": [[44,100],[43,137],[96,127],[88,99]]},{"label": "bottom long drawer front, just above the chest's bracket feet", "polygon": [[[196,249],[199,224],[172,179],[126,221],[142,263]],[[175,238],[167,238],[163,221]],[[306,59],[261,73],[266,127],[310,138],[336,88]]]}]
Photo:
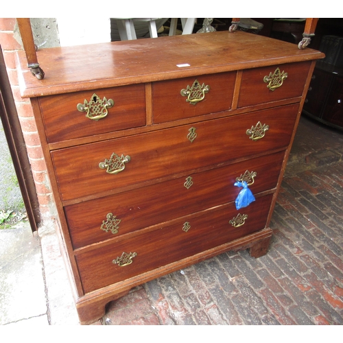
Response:
[{"label": "bottom long drawer front, just above the chest's bracket feet", "polygon": [[[261,230],[265,227],[271,201],[272,194],[263,196],[240,211],[231,203],[202,215],[184,217],[170,226],[77,255],[84,292],[117,283]],[[239,214],[247,218],[243,225],[233,227],[229,222]],[[119,266],[113,263],[123,252],[135,252],[137,256],[130,265]]]}]

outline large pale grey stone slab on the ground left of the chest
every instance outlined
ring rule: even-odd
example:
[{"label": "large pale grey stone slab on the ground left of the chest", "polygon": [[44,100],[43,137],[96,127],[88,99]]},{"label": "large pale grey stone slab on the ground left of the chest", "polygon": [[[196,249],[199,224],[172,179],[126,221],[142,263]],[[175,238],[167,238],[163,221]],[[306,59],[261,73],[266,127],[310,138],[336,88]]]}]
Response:
[{"label": "large pale grey stone slab on the ground left of the chest", "polygon": [[28,222],[0,230],[0,324],[47,314],[43,260]]}]

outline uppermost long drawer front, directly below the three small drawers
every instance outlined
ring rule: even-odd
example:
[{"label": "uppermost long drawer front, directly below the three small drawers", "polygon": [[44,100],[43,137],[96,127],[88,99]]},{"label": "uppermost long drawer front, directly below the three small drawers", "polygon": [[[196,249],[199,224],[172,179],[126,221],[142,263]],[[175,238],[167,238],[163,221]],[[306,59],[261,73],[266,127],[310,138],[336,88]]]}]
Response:
[{"label": "uppermost long drawer front, directly below the three small drawers", "polygon": [[[193,124],[197,137],[189,141],[191,126],[179,126],[132,137],[69,147],[51,152],[62,200],[126,187],[192,169],[224,163],[286,147],[294,128],[298,104],[246,115]],[[261,132],[257,141],[248,132]],[[254,126],[254,130],[252,130]],[[110,165],[113,153],[125,158],[117,174],[109,174],[99,163]],[[130,159],[130,161],[128,161]],[[105,161],[107,160],[107,161]],[[113,159],[112,159],[113,161]],[[121,161],[121,160],[120,160]],[[124,169],[123,169],[124,168]]]}]

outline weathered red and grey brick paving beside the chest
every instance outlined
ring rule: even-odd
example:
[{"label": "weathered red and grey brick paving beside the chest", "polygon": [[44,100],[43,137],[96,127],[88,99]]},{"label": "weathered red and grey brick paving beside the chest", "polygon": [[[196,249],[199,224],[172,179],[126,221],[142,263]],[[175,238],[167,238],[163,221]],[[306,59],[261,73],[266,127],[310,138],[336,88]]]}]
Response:
[{"label": "weathered red and grey brick paving beside the chest", "polygon": [[343,324],[343,133],[302,118],[268,254],[228,252],[145,283],[95,324]]}]

